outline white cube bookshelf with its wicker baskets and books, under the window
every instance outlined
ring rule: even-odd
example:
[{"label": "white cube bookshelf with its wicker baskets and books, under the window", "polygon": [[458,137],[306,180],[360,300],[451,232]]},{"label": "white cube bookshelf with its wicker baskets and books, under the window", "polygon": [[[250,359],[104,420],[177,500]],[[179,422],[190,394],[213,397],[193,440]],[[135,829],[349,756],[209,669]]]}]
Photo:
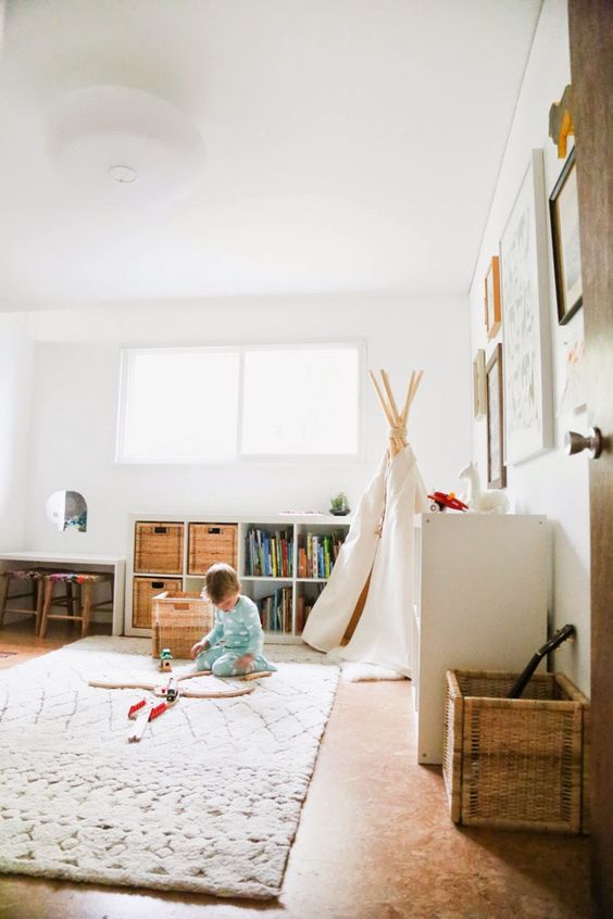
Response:
[{"label": "white cube bookshelf with its wicker baskets and books, under the window", "polygon": [[200,592],[209,565],[224,561],[260,607],[266,641],[300,641],[349,520],[327,514],[130,514],[125,633],[150,635],[151,599],[161,591]]}]

